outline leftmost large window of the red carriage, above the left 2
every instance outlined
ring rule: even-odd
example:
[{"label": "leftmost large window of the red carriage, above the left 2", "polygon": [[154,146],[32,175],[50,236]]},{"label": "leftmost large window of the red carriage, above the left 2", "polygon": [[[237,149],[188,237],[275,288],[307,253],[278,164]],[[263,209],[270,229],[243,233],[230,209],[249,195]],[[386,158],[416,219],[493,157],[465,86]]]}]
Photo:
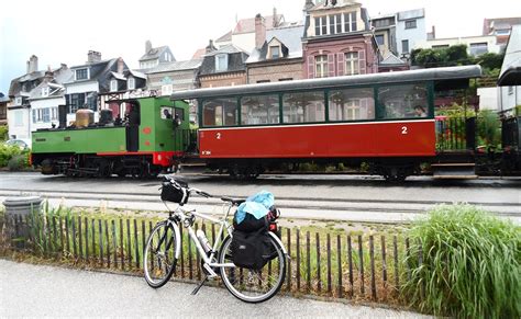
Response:
[{"label": "leftmost large window of the red carriage, above the left 2", "polygon": [[237,100],[223,98],[204,101],[202,123],[204,126],[237,125]]}]

